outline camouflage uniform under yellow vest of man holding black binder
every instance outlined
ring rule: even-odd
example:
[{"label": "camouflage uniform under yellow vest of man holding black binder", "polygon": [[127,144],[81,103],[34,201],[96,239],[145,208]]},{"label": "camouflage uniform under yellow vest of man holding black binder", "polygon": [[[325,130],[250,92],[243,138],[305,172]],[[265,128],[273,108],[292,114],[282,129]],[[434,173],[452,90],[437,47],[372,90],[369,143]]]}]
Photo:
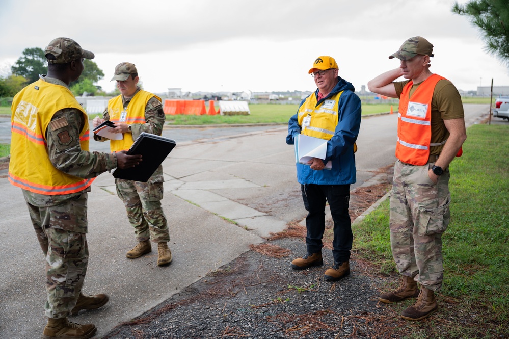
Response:
[{"label": "camouflage uniform under yellow vest of man holding black binder", "polygon": [[[67,86],[60,80],[41,75],[46,82]],[[48,127],[48,157],[59,170],[81,178],[92,178],[117,167],[112,153],[88,152],[81,149],[79,131],[85,123],[83,114],[63,109],[53,115],[64,117],[67,125],[53,131]],[[59,134],[67,130],[70,142],[62,143]],[[71,315],[82,289],[88,264],[87,195],[90,187],[71,194],[44,195],[22,190],[29,208],[39,244],[46,255],[47,301],[45,316],[65,318]]]}]

